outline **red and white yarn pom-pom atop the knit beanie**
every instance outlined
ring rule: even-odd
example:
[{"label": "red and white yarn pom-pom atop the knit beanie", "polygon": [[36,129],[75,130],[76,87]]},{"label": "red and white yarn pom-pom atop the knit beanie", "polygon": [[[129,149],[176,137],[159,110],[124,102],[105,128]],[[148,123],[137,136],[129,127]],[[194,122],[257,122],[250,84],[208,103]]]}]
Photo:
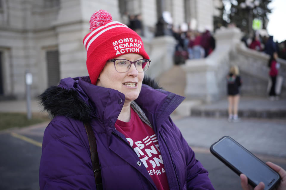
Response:
[{"label": "red and white yarn pom-pom atop the knit beanie", "polygon": [[91,15],[89,20],[89,30],[92,32],[97,26],[102,26],[104,23],[112,21],[112,16],[106,10],[99,10]]}]

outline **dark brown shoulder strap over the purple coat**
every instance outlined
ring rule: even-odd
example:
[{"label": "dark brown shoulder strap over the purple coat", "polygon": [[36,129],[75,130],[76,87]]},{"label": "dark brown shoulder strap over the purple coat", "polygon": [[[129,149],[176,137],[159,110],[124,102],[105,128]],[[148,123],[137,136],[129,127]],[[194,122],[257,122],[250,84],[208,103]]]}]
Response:
[{"label": "dark brown shoulder strap over the purple coat", "polygon": [[100,166],[99,166],[95,135],[88,122],[84,123],[84,127],[86,128],[86,134],[87,134],[88,142],[89,142],[92,170],[94,173],[96,189],[101,190],[102,189],[102,178],[101,178],[101,172],[100,172]]}]

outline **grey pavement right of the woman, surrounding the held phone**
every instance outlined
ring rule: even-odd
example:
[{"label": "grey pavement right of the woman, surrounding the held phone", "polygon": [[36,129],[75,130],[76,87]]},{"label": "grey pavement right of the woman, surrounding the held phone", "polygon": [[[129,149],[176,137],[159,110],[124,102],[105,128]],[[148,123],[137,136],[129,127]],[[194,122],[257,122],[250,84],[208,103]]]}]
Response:
[{"label": "grey pavement right of the woman, surrounding the held phone", "polygon": [[215,189],[241,190],[237,174],[213,156],[209,147],[223,136],[230,136],[264,162],[271,161],[286,170],[286,122],[244,118],[230,123],[226,118],[186,117],[175,124],[209,171]]}]

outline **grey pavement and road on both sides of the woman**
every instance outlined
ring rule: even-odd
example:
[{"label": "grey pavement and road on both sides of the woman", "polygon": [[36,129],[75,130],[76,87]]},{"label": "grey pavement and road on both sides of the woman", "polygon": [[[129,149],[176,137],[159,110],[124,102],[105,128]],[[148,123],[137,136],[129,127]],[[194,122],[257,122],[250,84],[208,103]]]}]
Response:
[{"label": "grey pavement and road on both sides of the woman", "polygon": [[[41,110],[35,101],[32,105],[32,110]],[[24,112],[24,106],[23,101],[0,102],[0,112]],[[234,138],[263,161],[274,162],[286,169],[285,119],[242,118],[239,123],[229,123],[226,118],[173,115],[173,120],[196,158],[209,171],[215,189],[241,190],[238,175],[209,152],[210,145],[225,135]],[[39,189],[38,168],[46,125],[0,131],[0,189]]]}]

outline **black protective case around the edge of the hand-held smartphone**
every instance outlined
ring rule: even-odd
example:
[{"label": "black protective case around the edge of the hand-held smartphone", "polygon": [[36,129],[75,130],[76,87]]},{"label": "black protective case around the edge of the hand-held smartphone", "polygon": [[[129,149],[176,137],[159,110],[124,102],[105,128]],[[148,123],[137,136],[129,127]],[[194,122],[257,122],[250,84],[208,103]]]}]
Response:
[{"label": "black protective case around the edge of the hand-held smartphone", "polygon": [[[240,145],[239,143],[237,143],[233,138],[229,137],[229,136],[223,136],[220,138],[220,140],[222,140],[223,138],[225,137],[228,137],[229,139],[231,139],[234,143],[236,143],[237,145],[239,145],[241,148],[243,148],[246,152],[250,153],[254,158],[256,158],[259,162],[262,162],[266,167],[268,167],[270,170],[272,170],[273,172],[275,172],[271,167],[269,167],[268,165],[266,165],[262,160],[260,160],[259,158],[257,158],[257,156],[255,156],[253,153],[251,153],[250,151],[248,151],[246,148],[244,148],[242,145]],[[235,168],[231,163],[229,163],[228,161],[226,161],[222,156],[220,156],[217,152],[215,152],[215,150],[213,149],[213,146],[218,143],[220,140],[218,140],[217,142],[213,143],[211,145],[211,147],[209,148],[210,149],[210,152],[215,156],[217,157],[221,162],[223,162],[224,164],[226,164],[227,167],[229,167],[232,171],[234,171],[237,175],[240,175],[242,174],[242,172],[240,172],[239,170],[237,170],[237,168]],[[277,173],[277,172],[276,172]],[[279,176],[279,179],[272,184],[272,186],[270,187],[270,189],[268,190],[271,190],[273,189],[276,184],[281,180],[280,178],[280,175],[277,173],[277,175]],[[253,181],[251,181],[251,179],[248,178],[248,183],[255,187],[257,186],[258,184],[255,184]]]}]

